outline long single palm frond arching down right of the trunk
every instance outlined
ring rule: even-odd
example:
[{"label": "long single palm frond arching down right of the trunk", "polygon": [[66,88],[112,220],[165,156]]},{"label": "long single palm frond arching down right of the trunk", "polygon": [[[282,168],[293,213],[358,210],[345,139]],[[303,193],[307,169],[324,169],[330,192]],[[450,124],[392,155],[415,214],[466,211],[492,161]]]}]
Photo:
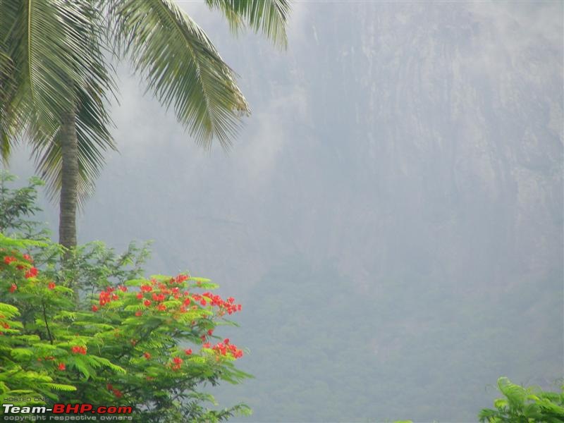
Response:
[{"label": "long single palm frond arching down right of the trunk", "polygon": [[114,1],[114,39],[137,73],[198,144],[231,146],[240,116],[249,107],[235,75],[207,35],[168,0]]}]

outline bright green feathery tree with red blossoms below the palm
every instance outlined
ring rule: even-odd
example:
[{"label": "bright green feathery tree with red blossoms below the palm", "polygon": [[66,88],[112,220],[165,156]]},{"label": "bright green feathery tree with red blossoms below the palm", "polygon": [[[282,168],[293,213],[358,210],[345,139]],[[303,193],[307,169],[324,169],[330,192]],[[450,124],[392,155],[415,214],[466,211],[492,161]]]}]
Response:
[{"label": "bright green feathery tree with red blossoms below the palm", "polygon": [[[34,190],[11,221],[37,210]],[[146,247],[116,255],[92,243],[73,250],[64,267],[63,255],[49,240],[0,233],[3,398],[128,405],[142,422],[217,422],[249,412],[243,404],[216,410],[201,391],[250,377],[234,364],[243,352],[214,335],[216,326],[234,324],[226,319],[240,310],[233,298],[189,274],[143,277]]]}]

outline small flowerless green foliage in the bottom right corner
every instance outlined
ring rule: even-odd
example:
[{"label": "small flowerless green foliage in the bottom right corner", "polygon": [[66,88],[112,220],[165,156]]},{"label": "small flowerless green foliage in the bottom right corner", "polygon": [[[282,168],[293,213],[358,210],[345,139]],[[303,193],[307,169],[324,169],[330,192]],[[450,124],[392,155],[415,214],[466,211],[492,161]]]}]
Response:
[{"label": "small flowerless green foliage in the bottom right corner", "polygon": [[546,392],[501,377],[498,388],[505,398],[494,400],[494,409],[484,408],[478,416],[480,422],[564,422],[564,386],[560,393]]}]

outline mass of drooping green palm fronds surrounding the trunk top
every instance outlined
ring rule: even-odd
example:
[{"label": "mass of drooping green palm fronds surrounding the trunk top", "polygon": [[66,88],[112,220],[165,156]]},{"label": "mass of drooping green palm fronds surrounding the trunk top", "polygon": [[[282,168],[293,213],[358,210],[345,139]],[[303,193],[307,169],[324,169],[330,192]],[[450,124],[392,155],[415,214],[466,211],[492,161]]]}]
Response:
[{"label": "mass of drooping green palm fronds surrounding the trunk top", "polygon": [[[11,84],[0,89],[5,99],[0,106],[4,158],[10,141],[17,138],[11,128],[27,128],[37,169],[47,179],[51,199],[56,199],[61,187],[61,120],[74,109],[80,204],[93,190],[104,152],[115,149],[106,95],[115,92],[116,85],[99,43],[104,16],[84,0],[6,1],[0,6],[0,37],[13,63]],[[4,73],[3,80],[12,77]]]}]

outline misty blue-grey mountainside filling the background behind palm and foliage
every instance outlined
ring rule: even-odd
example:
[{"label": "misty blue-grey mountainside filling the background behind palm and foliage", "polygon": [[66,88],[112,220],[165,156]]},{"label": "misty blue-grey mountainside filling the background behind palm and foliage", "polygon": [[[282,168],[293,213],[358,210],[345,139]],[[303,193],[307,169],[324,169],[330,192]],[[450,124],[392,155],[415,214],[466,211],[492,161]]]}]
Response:
[{"label": "misty blue-grey mountainside filling the background behind palm and foliage", "polygon": [[[564,376],[561,2],[304,1],[288,51],[182,2],[252,116],[203,152],[119,67],[79,240],[243,300],[247,422],[476,421]],[[28,153],[11,162],[32,173]],[[45,203],[56,228],[56,210]],[[489,388],[487,387],[489,386]]]}]

